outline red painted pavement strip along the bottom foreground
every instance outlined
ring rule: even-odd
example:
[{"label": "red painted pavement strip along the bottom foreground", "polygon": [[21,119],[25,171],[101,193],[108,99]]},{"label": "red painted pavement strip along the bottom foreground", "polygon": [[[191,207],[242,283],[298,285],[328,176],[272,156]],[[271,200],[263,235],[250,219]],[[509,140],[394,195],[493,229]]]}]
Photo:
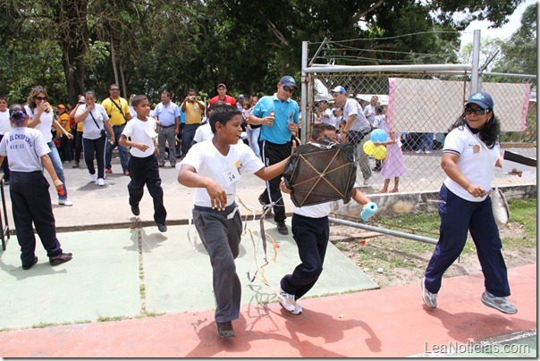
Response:
[{"label": "red painted pavement strip along the bottom foreground", "polygon": [[[65,267],[69,268],[67,264]],[[484,306],[480,301],[483,277],[475,274],[445,280],[436,309],[423,306],[419,284],[414,284],[308,298],[301,302],[304,307],[301,315],[291,315],[277,303],[252,302],[242,307],[240,319],[233,322],[237,333],[233,340],[217,337],[213,311],[191,311],[115,322],[0,332],[0,355],[440,356],[443,348],[459,349],[459,345],[471,345],[501,335],[529,330],[535,330],[536,335],[536,264],[510,269],[509,276],[511,299],[519,308],[516,315],[503,315]],[[521,341],[516,344],[516,349],[520,347],[530,351],[530,345],[527,348]],[[536,357],[536,348],[532,351],[525,355]],[[515,357],[520,355],[524,353],[514,354]]]}]

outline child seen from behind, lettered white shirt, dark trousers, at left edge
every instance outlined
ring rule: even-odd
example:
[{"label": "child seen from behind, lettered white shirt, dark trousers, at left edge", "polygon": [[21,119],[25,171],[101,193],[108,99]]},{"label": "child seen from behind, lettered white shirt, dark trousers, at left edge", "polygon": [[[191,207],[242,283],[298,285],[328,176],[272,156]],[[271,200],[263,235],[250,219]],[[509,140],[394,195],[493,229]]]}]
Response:
[{"label": "child seen from behind, lettered white shirt, dark trousers, at left edge", "polygon": [[30,117],[22,105],[13,104],[9,108],[12,130],[4,134],[0,142],[0,164],[9,156],[10,197],[12,199],[13,221],[17,241],[21,246],[23,270],[38,263],[36,237],[32,222],[38,232],[46,256],[52,265],[63,264],[72,259],[71,253],[63,253],[56,238],[55,215],[51,206],[49,183],[43,175],[41,164],[51,175],[58,194],[63,194],[63,183],[55,172],[55,167],[47,155],[47,146],[41,131],[27,128]]}]

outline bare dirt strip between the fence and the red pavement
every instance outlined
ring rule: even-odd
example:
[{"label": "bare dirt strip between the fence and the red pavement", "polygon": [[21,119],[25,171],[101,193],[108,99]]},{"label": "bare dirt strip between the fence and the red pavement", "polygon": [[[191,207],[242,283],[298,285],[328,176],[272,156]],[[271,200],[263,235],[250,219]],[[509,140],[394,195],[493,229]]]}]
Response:
[{"label": "bare dirt strip between the fence and the red pavement", "polygon": [[[525,247],[505,246],[506,237],[514,239],[524,237],[525,232],[519,223],[510,222],[500,230],[500,233],[502,254],[508,268],[536,263],[536,239],[531,239]],[[418,283],[435,249],[435,245],[429,243],[381,235],[340,224],[332,224],[330,234],[333,244],[382,289]],[[428,237],[437,239],[435,234]],[[421,245],[414,243],[421,243]],[[479,272],[481,272],[481,267],[476,248],[472,239],[468,239],[460,259],[451,265],[444,273],[444,277]]]}]

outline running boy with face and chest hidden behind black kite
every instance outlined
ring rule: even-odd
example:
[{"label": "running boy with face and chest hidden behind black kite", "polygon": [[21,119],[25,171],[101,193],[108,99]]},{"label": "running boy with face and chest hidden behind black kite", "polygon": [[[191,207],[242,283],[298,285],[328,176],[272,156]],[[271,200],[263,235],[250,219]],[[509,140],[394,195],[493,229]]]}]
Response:
[{"label": "running boy with face and chest hidden behind black kite", "polygon": [[[336,141],[336,129],[331,124],[318,123],[311,131],[311,142],[326,137]],[[281,182],[282,191],[291,193],[291,189]],[[371,218],[376,206],[359,189],[352,189],[352,199],[364,206],[362,218]],[[315,285],[323,272],[326,246],[330,237],[328,223],[330,202],[314,206],[294,206],[292,211],[292,238],[298,246],[301,264],[297,265],[292,274],[287,274],[280,282],[280,304],[293,315],[300,315],[302,307],[296,302]]]}]

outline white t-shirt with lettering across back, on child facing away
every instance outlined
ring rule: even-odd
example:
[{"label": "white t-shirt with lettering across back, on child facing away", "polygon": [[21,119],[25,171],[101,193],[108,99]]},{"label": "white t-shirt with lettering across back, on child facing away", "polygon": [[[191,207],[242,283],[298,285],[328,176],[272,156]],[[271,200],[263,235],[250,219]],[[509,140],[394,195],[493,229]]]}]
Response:
[{"label": "white t-shirt with lettering across back, on child facing away", "polygon": [[26,127],[13,127],[0,142],[0,155],[9,158],[12,172],[42,171],[42,155],[51,153],[41,131]]}]

